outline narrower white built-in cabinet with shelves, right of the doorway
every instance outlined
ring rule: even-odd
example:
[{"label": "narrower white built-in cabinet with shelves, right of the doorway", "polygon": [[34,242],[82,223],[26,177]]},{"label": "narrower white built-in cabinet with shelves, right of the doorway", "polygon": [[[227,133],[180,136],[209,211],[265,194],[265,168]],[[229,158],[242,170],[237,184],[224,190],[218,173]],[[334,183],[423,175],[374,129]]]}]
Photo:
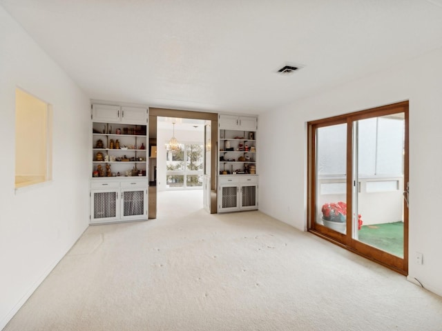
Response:
[{"label": "narrower white built-in cabinet with shelves, right of the doorway", "polygon": [[258,209],[257,118],[220,114],[218,212]]}]

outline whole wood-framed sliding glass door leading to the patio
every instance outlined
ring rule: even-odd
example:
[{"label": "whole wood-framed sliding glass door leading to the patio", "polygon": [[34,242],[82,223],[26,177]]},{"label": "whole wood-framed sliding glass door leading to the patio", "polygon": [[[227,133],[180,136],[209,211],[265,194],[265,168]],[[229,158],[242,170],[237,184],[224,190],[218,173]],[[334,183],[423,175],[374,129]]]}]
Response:
[{"label": "whole wood-framed sliding glass door leading to the patio", "polygon": [[309,123],[309,230],[407,273],[408,103]]}]

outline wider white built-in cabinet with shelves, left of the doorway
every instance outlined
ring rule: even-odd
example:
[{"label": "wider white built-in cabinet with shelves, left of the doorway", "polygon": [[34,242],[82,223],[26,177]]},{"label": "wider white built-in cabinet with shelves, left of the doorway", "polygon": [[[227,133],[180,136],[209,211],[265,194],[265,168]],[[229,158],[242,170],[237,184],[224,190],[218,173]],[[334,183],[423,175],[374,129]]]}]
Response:
[{"label": "wider white built-in cabinet with shelves, left of the doorway", "polygon": [[92,106],[90,223],[148,218],[148,109]]}]

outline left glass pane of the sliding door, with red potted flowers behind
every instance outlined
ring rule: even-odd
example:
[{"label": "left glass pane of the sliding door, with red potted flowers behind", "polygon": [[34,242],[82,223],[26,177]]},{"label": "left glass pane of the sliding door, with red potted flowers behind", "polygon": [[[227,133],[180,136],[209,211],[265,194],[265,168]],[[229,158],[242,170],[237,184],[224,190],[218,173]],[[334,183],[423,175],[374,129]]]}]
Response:
[{"label": "left glass pane of the sliding door, with red potted flowers behind", "polygon": [[347,124],[316,129],[317,224],[347,232]]}]

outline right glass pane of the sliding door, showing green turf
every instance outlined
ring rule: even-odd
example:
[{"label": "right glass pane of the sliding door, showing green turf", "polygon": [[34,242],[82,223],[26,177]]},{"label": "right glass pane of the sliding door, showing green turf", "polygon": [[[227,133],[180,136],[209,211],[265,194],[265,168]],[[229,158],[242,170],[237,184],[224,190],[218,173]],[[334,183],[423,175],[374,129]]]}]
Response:
[{"label": "right glass pane of the sliding door, showing green turf", "polygon": [[352,237],[403,258],[405,114],[355,121],[353,129]]}]

